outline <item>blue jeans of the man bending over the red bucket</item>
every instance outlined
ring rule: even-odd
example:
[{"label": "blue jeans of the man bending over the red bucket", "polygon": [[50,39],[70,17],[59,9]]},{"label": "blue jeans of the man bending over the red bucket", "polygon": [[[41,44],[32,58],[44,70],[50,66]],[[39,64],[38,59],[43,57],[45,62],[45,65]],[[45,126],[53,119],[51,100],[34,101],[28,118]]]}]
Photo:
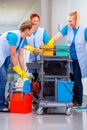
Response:
[{"label": "blue jeans of the man bending over the red bucket", "polygon": [[4,64],[0,67],[0,109],[6,107],[5,105],[5,86],[7,83],[7,70],[9,67],[9,57],[6,58]]}]

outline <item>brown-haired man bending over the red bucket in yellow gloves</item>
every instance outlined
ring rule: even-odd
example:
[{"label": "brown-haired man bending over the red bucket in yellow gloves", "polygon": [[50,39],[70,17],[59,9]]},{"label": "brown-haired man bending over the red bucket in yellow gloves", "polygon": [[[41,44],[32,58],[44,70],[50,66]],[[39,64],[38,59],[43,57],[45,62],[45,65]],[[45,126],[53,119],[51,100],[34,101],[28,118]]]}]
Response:
[{"label": "brown-haired man bending over the red bucket in yellow gloves", "polygon": [[[5,86],[7,83],[7,71],[10,64],[10,58],[13,64],[13,70],[22,77],[27,78],[24,68],[24,45],[26,36],[30,36],[34,31],[34,25],[26,20],[19,30],[7,31],[0,36],[0,112],[8,112],[9,108],[5,104]],[[17,58],[18,57],[18,58]]]}]

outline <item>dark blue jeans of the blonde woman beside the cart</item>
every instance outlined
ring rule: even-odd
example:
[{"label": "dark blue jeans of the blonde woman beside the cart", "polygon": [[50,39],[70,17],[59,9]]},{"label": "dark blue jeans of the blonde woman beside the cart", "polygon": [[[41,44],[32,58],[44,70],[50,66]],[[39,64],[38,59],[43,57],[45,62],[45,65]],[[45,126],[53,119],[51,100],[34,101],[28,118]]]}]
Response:
[{"label": "dark blue jeans of the blonde woman beside the cart", "polygon": [[73,88],[74,93],[73,100],[81,104],[83,102],[83,85],[81,81],[82,76],[78,60],[73,60],[72,65],[73,65],[73,74],[74,74],[73,76],[75,82]]}]

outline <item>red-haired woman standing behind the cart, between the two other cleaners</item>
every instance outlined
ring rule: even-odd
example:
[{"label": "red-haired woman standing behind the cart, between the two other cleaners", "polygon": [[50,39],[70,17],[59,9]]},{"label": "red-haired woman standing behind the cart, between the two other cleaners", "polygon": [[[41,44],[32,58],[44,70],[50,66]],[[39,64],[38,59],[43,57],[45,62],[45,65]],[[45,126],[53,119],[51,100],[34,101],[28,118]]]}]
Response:
[{"label": "red-haired woman standing behind the cart, between the two other cleaners", "polygon": [[[41,45],[46,44],[50,40],[50,37],[48,36],[46,29],[39,26],[40,25],[40,16],[38,14],[36,14],[36,13],[31,14],[30,21],[32,21],[34,24],[34,32],[31,36],[27,37],[27,44],[36,48],[35,51],[37,51],[37,49],[39,49],[39,47]],[[28,50],[30,49],[29,46],[26,46],[25,48]],[[35,51],[34,51],[34,53],[35,53]],[[34,55],[33,53],[30,53],[29,63],[37,62],[38,60],[40,60],[39,54]],[[33,73],[34,81],[36,81],[38,78],[37,70],[30,69],[29,72]]]}]

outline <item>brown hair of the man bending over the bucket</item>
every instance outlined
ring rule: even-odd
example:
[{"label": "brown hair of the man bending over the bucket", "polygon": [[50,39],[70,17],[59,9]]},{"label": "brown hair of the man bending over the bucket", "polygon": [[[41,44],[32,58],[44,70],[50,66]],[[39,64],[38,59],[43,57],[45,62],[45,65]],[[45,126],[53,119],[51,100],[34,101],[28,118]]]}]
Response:
[{"label": "brown hair of the man bending over the bucket", "polygon": [[20,31],[21,32],[24,32],[26,29],[31,29],[32,28],[32,26],[33,26],[34,24],[31,22],[31,21],[29,21],[29,20],[26,20],[26,21],[24,21],[21,25],[20,25]]}]

